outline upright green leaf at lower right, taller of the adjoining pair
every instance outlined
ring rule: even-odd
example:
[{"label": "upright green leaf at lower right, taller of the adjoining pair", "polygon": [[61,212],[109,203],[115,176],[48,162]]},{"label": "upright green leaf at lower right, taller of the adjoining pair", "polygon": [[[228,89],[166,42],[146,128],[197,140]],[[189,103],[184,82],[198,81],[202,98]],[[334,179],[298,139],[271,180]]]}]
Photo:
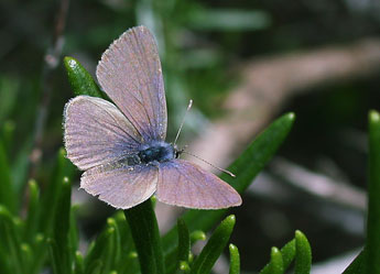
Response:
[{"label": "upright green leaf at lower right, taller of the adjoining pair", "polygon": [[312,249],[306,237],[295,231],[295,266],[294,274],[308,274],[312,268]]}]

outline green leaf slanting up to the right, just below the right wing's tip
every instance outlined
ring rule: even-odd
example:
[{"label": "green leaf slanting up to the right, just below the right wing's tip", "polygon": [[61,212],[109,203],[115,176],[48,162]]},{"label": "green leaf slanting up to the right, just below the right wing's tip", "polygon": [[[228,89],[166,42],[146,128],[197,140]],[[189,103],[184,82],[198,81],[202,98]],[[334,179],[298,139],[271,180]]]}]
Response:
[{"label": "green leaf slanting up to the right, just below the right wing's tip", "polygon": [[219,227],[214,231],[200,254],[195,259],[192,265],[192,274],[210,273],[216,260],[220,256],[227,245],[235,227],[235,216],[228,216]]}]

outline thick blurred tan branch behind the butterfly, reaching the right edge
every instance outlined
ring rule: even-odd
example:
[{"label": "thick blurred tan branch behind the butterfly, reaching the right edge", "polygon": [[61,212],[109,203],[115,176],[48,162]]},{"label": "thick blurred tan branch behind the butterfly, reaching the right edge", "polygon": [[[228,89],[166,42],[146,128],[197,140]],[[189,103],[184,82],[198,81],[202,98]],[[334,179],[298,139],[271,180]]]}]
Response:
[{"label": "thick blurred tan branch behind the butterfly, reaching the right edge", "polygon": [[227,118],[216,121],[189,146],[218,166],[226,166],[291,96],[316,85],[378,72],[380,40],[250,61],[240,69],[241,83],[225,102]]}]

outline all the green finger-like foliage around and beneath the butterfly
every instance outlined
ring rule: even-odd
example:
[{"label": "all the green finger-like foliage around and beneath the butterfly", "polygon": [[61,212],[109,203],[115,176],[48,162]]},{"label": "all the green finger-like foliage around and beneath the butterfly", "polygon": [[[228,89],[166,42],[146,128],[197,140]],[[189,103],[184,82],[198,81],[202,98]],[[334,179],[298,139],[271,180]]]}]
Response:
[{"label": "all the green finger-like foliage around and beneath the butterfly", "polygon": [[[83,66],[74,58],[65,58],[72,87],[77,95],[101,96],[98,87]],[[90,91],[88,91],[90,90]],[[294,114],[287,113],[264,130],[229,167],[236,178],[221,175],[239,193],[274,155],[290,132]],[[379,273],[379,197],[380,197],[380,119],[372,111],[369,119],[369,213],[365,251],[345,271]],[[9,125],[8,125],[9,127]],[[4,132],[4,131],[3,131]],[[8,133],[7,133],[8,132]],[[59,150],[48,184],[40,191],[36,180],[28,183],[29,201],[25,217],[19,218],[17,187],[12,182],[7,146],[11,129],[0,139],[0,268],[4,274],[41,273],[44,267],[54,274],[164,274],[210,273],[216,260],[229,243],[236,222],[226,217],[215,229],[202,252],[192,253],[192,245],[206,239],[206,232],[216,226],[227,210],[188,210],[170,232],[161,237],[153,205],[146,200],[129,210],[117,211],[99,235],[83,254],[78,251],[79,237],[76,224],[76,206],[70,205],[70,177],[73,165]],[[6,144],[6,145],[4,145]],[[4,195],[7,194],[7,195]],[[240,272],[237,246],[229,245],[230,274]],[[281,250],[272,248],[270,262],[261,274],[284,273],[294,262],[295,274],[311,271],[312,252],[306,237],[295,231],[295,237]]]}]

